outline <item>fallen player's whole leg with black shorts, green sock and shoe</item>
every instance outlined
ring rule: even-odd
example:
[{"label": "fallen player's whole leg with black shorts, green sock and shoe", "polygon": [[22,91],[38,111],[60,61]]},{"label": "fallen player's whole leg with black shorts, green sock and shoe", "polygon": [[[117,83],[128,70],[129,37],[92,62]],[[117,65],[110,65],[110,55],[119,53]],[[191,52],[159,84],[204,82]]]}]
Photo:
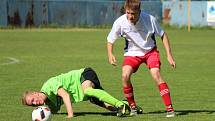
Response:
[{"label": "fallen player's whole leg with black shorts, green sock and shoe", "polygon": [[94,70],[88,68],[85,70],[82,76],[82,78],[84,79],[84,81],[82,82],[82,88],[84,90],[85,95],[90,98],[90,101],[92,103],[104,107],[108,110],[113,110],[114,107],[117,107],[117,116],[123,116],[126,111],[129,111],[129,108],[126,106],[126,104],[114,98],[109,93],[103,90],[100,85],[97,74]]}]

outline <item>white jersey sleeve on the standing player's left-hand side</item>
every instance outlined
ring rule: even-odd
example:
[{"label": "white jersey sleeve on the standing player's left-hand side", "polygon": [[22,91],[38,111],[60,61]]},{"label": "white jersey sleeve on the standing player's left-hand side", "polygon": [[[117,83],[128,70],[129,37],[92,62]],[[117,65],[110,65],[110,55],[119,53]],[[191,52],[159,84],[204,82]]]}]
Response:
[{"label": "white jersey sleeve on the standing player's left-hand side", "polygon": [[107,41],[110,43],[114,43],[115,40],[121,36],[120,30],[121,29],[120,29],[119,21],[116,20],[113,24],[113,27],[112,27],[110,33],[108,34]]}]

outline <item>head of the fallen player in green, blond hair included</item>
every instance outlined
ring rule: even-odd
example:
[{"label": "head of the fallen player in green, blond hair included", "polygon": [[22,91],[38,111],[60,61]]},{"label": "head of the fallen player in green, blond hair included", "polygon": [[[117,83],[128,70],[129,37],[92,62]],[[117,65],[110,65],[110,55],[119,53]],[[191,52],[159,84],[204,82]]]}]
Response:
[{"label": "head of the fallen player in green, blond hair included", "polygon": [[39,106],[44,104],[44,98],[40,92],[26,91],[22,96],[22,104],[28,106]]}]

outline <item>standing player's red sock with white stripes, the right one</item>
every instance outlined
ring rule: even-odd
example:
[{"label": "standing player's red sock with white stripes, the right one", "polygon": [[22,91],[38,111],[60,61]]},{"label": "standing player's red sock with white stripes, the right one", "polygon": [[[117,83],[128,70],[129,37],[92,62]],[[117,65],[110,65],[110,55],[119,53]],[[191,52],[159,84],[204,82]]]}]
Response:
[{"label": "standing player's red sock with white stripes, the right one", "polygon": [[161,83],[159,85],[159,90],[160,90],[160,95],[161,95],[166,107],[169,107],[170,105],[172,105],[168,85],[166,83]]}]

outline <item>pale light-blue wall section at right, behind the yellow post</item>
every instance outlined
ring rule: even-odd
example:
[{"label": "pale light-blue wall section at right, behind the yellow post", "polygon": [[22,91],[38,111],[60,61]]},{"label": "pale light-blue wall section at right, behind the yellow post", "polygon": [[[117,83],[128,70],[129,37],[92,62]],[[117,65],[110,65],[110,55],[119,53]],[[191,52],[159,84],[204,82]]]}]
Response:
[{"label": "pale light-blue wall section at right, behind the yellow post", "polygon": [[[190,4],[191,26],[206,26],[207,1],[191,1]],[[188,2],[165,1],[163,2],[163,22],[170,25],[188,25]]]}]

